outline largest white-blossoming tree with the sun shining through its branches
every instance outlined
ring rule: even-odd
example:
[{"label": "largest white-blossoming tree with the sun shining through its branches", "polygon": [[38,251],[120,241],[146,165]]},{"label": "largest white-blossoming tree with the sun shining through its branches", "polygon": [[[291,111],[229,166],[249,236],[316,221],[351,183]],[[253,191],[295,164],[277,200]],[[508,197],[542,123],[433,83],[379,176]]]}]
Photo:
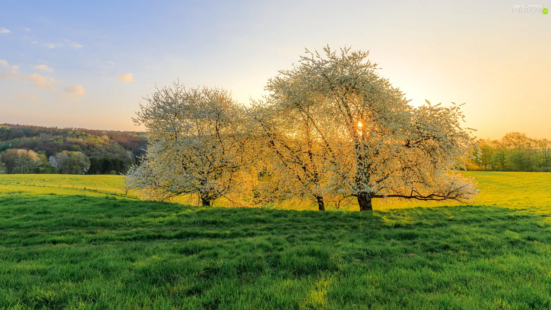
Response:
[{"label": "largest white-blossoming tree with the sun shining through its branches", "polygon": [[[360,210],[372,210],[371,199],[382,197],[472,200],[473,180],[457,172],[473,143],[459,106],[426,101],[415,108],[376,74],[367,52],[323,50],[280,71],[267,89],[290,109],[300,110],[293,102],[306,97],[302,113],[339,172],[329,176],[333,191],[356,197]],[[352,169],[341,169],[347,162]]]}]

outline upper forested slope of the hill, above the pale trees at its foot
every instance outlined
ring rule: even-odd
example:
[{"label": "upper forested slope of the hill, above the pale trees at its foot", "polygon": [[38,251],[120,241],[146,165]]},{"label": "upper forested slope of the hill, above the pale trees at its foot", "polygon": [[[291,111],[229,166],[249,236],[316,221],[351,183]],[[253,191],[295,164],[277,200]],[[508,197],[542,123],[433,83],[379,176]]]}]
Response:
[{"label": "upper forested slope of the hill, above the pale trees at its foot", "polygon": [[[124,165],[127,168],[129,164],[136,162],[136,157],[144,152],[146,146],[147,140],[139,132],[0,125],[0,152],[9,148],[30,149],[47,158],[62,151],[82,152],[90,158],[91,170],[94,170],[94,162],[98,165]],[[118,172],[121,169],[115,170]]]}]

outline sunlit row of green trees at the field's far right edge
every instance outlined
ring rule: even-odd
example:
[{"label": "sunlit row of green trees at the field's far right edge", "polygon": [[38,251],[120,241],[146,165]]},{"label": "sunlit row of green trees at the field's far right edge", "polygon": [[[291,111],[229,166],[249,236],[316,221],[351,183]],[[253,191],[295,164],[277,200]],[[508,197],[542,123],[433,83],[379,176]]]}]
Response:
[{"label": "sunlit row of green trees at the field's far right edge", "polygon": [[551,141],[510,132],[501,140],[480,139],[468,170],[551,172]]}]

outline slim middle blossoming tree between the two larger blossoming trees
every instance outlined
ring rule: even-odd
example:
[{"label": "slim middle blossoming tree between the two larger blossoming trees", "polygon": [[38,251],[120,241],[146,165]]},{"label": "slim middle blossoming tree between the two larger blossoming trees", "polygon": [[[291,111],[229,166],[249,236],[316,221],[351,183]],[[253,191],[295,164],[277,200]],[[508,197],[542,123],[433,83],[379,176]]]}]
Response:
[{"label": "slim middle blossoming tree between the two larger blossoming trees", "polygon": [[[294,104],[300,105],[299,109]],[[306,113],[304,113],[306,111]],[[331,169],[328,152],[318,143],[318,132],[304,101],[254,102],[249,116],[256,126],[259,156],[256,165],[269,172],[256,189],[260,201],[305,199],[325,211]]]}]

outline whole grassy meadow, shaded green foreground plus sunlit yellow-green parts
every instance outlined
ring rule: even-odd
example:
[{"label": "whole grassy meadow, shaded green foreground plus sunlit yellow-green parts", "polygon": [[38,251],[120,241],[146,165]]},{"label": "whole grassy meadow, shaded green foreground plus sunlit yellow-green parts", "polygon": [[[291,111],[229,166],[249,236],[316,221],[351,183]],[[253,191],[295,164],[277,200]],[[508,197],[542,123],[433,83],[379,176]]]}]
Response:
[{"label": "whole grassy meadow, shaded green foreground plus sunlit yellow-green parts", "polygon": [[42,177],[60,189],[0,175],[0,308],[551,308],[551,174],[469,174],[472,206],[372,213],[185,206],[70,188],[112,193],[115,176]]}]

